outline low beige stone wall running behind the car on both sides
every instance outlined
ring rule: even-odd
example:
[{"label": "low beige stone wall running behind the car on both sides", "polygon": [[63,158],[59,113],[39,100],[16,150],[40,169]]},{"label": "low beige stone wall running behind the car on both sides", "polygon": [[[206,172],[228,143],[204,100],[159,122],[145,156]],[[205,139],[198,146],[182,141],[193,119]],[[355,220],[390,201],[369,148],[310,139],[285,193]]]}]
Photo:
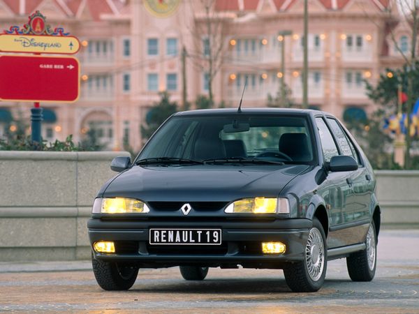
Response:
[{"label": "low beige stone wall running behind the car on both sides", "polygon": [[[90,258],[96,192],[126,152],[0,151],[0,262]],[[419,171],[377,171],[386,225],[419,225]]]}]

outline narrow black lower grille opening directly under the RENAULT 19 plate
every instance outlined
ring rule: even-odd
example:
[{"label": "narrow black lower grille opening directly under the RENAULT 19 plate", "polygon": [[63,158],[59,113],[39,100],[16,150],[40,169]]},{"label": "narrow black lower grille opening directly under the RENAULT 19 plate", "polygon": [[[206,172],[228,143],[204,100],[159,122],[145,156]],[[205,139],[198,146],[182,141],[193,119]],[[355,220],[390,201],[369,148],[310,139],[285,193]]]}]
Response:
[{"label": "narrow black lower grille opening directly under the RENAULT 19 plate", "polygon": [[153,246],[147,245],[149,254],[175,254],[175,255],[225,255],[228,251],[227,244],[219,246]]}]

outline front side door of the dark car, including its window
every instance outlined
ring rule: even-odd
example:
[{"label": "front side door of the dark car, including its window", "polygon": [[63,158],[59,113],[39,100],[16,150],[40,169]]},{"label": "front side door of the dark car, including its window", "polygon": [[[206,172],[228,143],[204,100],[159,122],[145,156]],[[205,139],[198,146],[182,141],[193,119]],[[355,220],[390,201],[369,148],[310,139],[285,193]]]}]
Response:
[{"label": "front side door of the dark car, including its window", "polygon": [[[340,154],[335,138],[332,136],[325,120],[316,117],[316,126],[320,135],[323,159],[330,162],[333,156]],[[351,237],[345,234],[345,227],[353,223],[353,189],[347,179],[351,172],[329,172],[327,179],[319,186],[318,193],[323,197],[328,210],[330,233],[328,247],[335,248],[352,243]]]}]

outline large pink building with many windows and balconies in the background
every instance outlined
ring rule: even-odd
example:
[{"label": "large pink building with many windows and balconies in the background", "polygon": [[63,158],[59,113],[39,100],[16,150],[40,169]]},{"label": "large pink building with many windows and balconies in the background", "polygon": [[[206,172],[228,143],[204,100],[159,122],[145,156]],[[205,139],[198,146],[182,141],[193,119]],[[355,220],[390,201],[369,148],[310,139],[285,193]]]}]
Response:
[{"label": "large pink building with many windows and balconies in the background", "polygon": [[[34,10],[47,22],[87,40],[76,55],[82,63],[80,100],[45,103],[48,140],[73,134],[82,140],[91,128],[108,149],[124,142],[142,145],[140,126],[149,107],[167,90],[182,104],[182,47],[186,48],[186,94],[190,102],[208,93],[208,54],[218,53],[212,81],[216,104],[263,107],[281,77],[302,102],[303,0],[216,0],[208,13],[202,1],[183,0],[0,0],[0,29],[21,26]],[[402,65],[389,27],[402,50],[409,33],[388,13],[388,0],[309,0],[309,105],[344,118],[374,110],[363,80],[376,82],[386,67]],[[207,21],[222,32],[210,36]],[[216,21],[216,22],[214,22]],[[289,33],[281,36],[281,33]],[[219,35],[221,34],[222,35]],[[284,73],[281,50],[284,45]],[[219,66],[219,68],[218,68]],[[30,103],[0,103],[0,110],[22,111]],[[3,114],[6,117],[7,114]],[[0,129],[1,122],[0,112]],[[6,118],[3,118],[6,119]],[[1,130],[0,130],[1,135]]]}]

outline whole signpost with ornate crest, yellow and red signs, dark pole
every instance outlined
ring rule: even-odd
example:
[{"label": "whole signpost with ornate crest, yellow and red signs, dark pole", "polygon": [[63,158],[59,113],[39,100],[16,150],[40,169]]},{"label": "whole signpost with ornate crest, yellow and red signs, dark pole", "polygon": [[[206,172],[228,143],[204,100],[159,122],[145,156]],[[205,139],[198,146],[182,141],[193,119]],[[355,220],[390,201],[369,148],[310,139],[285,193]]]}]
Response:
[{"label": "whole signpost with ornate crest, yellow and red signs, dark pole", "polygon": [[41,57],[39,54],[75,54],[80,41],[63,28],[51,29],[39,11],[0,34],[0,52],[35,54],[0,55],[0,101],[31,101],[31,139],[41,143],[41,101],[71,103],[80,94],[80,65],[74,57]]}]

